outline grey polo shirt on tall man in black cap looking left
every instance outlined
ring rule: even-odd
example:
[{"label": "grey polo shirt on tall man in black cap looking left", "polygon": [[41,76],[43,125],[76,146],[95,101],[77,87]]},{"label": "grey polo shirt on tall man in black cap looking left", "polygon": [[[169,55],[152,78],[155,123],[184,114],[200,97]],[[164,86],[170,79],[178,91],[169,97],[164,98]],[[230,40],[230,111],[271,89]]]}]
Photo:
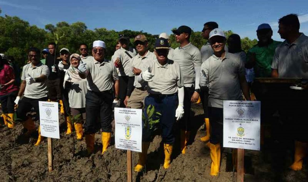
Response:
[{"label": "grey polo shirt on tall man in black cap looking left", "polygon": [[[193,44],[189,43],[183,47],[177,47],[173,52],[173,60],[180,65],[181,74],[183,76],[184,86],[191,87],[196,86],[196,89],[199,87],[199,77],[196,75],[197,67],[200,68],[201,62],[201,53],[199,49]],[[198,84],[195,85],[197,80]]]}]

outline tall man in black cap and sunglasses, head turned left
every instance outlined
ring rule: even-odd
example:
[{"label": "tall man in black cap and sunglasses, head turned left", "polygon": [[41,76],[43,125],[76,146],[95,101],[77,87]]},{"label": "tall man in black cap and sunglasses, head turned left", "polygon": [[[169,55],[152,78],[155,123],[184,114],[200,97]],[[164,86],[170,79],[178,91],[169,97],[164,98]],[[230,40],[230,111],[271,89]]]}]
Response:
[{"label": "tall man in black cap and sunglasses, head turned left", "polygon": [[180,65],[184,80],[185,114],[180,120],[181,151],[182,154],[184,154],[191,131],[191,124],[189,123],[191,102],[197,102],[199,98],[199,78],[202,61],[199,49],[189,42],[192,32],[191,28],[188,26],[180,26],[177,30],[173,30],[172,32],[176,34],[176,42],[180,43],[180,47],[174,50],[173,59]]}]

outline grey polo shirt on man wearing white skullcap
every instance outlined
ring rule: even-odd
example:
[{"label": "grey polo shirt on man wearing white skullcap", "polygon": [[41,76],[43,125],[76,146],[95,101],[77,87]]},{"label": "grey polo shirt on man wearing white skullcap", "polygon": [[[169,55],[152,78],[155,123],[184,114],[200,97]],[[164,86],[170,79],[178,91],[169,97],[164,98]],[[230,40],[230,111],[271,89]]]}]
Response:
[{"label": "grey polo shirt on man wearing white skullcap", "polygon": [[111,90],[113,80],[119,80],[115,65],[106,59],[100,63],[92,57],[91,60],[84,61],[87,68],[87,88],[94,92]]}]

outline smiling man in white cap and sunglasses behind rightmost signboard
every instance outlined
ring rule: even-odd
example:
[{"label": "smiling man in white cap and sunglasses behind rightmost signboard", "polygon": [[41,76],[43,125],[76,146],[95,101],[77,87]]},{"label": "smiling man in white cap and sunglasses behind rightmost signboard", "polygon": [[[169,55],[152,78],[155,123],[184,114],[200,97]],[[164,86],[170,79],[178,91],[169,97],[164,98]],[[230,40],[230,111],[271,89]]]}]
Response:
[{"label": "smiling man in white cap and sunglasses behind rightmost signboard", "polygon": [[208,106],[211,121],[209,148],[212,159],[210,175],[217,176],[221,159],[223,101],[242,100],[242,92],[246,100],[250,101],[250,95],[244,62],[239,56],[225,51],[224,32],[217,28],[212,30],[209,34],[209,42],[214,54],[201,65],[200,86],[201,89],[209,90]]}]

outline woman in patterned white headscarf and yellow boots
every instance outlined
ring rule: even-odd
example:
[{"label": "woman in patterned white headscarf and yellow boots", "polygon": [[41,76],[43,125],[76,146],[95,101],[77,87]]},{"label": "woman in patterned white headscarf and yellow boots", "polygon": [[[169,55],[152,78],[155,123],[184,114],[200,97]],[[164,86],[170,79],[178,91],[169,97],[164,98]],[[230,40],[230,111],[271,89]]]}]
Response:
[{"label": "woman in patterned white headscarf and yellow boots", "polygon": [[[72,118],[75,120],[74,127],[77,139],[81,140],[83,136],[82,121],[86,119],[86,93],[87,79],[82,79],[78,75],[78,66],[81,58],[74,53],[70,56],[71,66],[67,69],[63,88],[68,92],[68,101],[71,108]],[[79,115],[80,114],[80,115]],[[78,117],[78,115],[80,117]],[[77,118],[76,118],[77,116]]]}]

